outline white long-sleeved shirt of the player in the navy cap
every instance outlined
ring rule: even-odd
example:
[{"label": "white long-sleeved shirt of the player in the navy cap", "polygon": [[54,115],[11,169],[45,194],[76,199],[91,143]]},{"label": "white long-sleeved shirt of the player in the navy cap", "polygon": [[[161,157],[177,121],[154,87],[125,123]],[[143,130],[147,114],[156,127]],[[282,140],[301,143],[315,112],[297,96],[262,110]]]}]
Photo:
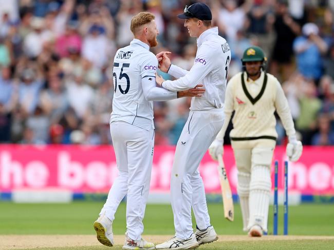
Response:
[{"label": "white long-sleeved shirt of the player in the navy cap", "polygon": [[191,110],[210,110],[224,107],[227,71],[231,51],[227,41],[218,35],[214,27],[203,32],[197,39],[197,53],[190,71],[171,65],[168,73],[179,78],[166,80],[162,87],[182,91],[202,84],[206,89],[201,97],[193,97]]}]

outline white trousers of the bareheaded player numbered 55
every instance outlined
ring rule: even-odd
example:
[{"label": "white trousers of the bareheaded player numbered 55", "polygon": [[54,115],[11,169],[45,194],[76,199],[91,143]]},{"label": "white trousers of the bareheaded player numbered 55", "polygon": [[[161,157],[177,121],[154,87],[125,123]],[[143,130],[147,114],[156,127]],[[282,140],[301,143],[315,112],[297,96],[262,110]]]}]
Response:
[{"label": "white trousers of the bareheaded player numbered 55", "polygon": [[154,130],[146,131],[127,122],[114,121],[110,123],[110,133],[119,176],[109,191],[100,215],[105,212],[113,221],[119,203],[127,194],[126,233],[131,239],[140,240],[150,190]]}]

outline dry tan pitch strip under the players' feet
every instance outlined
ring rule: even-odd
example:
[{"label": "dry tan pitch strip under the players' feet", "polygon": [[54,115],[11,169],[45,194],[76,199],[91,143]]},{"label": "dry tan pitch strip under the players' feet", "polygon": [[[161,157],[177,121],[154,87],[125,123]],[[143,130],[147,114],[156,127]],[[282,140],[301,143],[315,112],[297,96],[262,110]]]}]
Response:
[{"label": "dry tan pitch strip under the players' feet", "polygon": [[[162,242],[169,239],[171,236],[166,235],[146,235],[144,238],[151,242]],[[210,244],[216,248],[215,244],[219,242],[235,242],[235,241],[309,241],[309,240],[329,240],[334,242],[334,236],[264,236],[261,238],[250,238],[245,235],[220,235],[217,242]],[[123,235],[115,236],[116,247],[105,247],[103,249],[119,249],[124,241]],[[101,246],[95,235],[0,235],[0,249],[45,249],[45,248],[60,248],[71,249],[72,247],[89,247]],[[209,246],[209,245],[208,245]],[[213,249],[212,248],[212,249]],[[205,249],[201,246],[198,249]],[[288,249],[288,248],[287,248]]]}]

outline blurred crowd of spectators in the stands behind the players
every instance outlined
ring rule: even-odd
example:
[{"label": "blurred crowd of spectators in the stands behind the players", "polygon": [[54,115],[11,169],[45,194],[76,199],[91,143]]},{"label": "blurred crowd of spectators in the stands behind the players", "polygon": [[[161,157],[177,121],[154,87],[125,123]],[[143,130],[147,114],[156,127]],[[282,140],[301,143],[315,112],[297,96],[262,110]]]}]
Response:
[{"label": "blurred crowd of spectators in the stands behind the players", "polygon": [[[133,39],[131,18],[152,12],[160,32],[152,52],[172,51],[173,64],[190,69],[196,40],[176,15],[194,2],[211,7],[228,40],[229,78],[248,46],[262,47],[303,143],[334,145],[334,0],[0,0],[0,142],[111,144],[110,66]],[[155,102],[156,144],[176,144],[189,105]],[[286,143],[278,117],[276,129]]]}]

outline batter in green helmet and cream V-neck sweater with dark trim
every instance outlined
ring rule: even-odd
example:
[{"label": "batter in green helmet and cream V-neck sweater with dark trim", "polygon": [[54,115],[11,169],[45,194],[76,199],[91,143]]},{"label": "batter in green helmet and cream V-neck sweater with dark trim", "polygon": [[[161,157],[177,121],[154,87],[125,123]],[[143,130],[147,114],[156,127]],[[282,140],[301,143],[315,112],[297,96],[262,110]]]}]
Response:
[{"label": "batter in green helmet and cream V-neck sweater with dark trim", "polygon": [[289,160],[296,161],[303,146],[296,139],[288,101],[280,82],[265,72],[267,58],[261,48],[245,50],[244,71],[228,82],[225,100],[225,121],[209,148],[217,160],[223,153],[223,139],[232,111],[235,111],[231,144],[238,170],[237,192],[243,215],[244,231],[259,237],[267,232],[271,161],[277,133],[274,112],[279,114],[289,138],[286,148]]}]

